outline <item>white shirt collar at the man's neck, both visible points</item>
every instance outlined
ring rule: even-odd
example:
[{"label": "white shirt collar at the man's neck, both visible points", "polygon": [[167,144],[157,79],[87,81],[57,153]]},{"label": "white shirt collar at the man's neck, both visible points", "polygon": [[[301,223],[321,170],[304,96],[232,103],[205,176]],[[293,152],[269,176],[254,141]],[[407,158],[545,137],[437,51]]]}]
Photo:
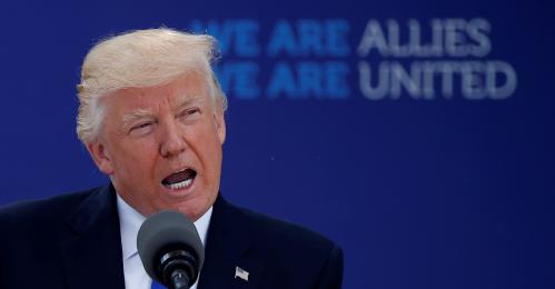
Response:
[{"label": "white shirt collar at the man's neck, both visible points", "polygon": [[[121,252],[123,255],[123,260],[126,260],[137,253],[137,233],[146,218],[129,206],[119,195],[117,195],[117,198]],[[212,207],[210,206],[205,215],[195,222],[195,228],[197,228],[202,245],[206,245],[206,236],[211,216]]]}]

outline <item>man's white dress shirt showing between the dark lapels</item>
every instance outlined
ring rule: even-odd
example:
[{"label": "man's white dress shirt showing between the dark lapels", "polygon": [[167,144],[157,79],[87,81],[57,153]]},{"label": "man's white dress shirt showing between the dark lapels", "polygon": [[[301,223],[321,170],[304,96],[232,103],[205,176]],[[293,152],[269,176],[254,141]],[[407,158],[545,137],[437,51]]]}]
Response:
[{"label": "man's white dress shirt showing between the dark lapels", "polygon": [[[118,196],[119,229],[121,233],[121,251],[123,255],[123,275],[127,289],[150,289],[152,279],[147,275],[137,252],[137,233],[145,221],[145,217],[129,206]],[[195,227],[200,236],[202,245],[206,243],[208,225],[212,216],[212,207],[206,211],[196,222]],[[191,289],[197,289],[197,282]]]}]

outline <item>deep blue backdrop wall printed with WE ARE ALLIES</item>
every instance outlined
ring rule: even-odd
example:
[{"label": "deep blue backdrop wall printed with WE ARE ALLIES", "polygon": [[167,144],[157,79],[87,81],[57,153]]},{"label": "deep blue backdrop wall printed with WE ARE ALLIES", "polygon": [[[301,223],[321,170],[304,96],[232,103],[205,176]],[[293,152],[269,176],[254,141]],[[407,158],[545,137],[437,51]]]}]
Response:
[{"label": "deep blue backdrop wall printed with WE ARE ALLIES", "polygon": [[[4,1],[0,203],[107,181],[75,133],[75,86],[98,39],[208,30],[230,100],[222,192],[338,242],[345,288],[555,288],[554,19],[539,0]],[[376,47],[380,33],[393,47],[396,24],[406,44],[409,23],[429,43],[434,21],[439,56]],[[365,34],[374,47],[360,53]],[[466,74],[453,93],[442,73],[434,96],[364,93],[381,63],[422,61]],[[494,62],[513,88],[465,90]]]}]

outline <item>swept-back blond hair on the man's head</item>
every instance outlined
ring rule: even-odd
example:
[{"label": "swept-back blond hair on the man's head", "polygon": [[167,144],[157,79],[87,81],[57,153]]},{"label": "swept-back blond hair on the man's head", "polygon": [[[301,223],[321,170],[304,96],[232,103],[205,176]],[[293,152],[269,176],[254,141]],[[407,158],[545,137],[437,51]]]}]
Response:
[{"label": "swept-back blond hair on the man's head", "polygon": [[77,86],[79,110],[77,134],[83,142],[98,137],[103,119],[100,99],[125,88],[146,88],[189,73],[202,73],[215,103],[222,111],[227,99],[210,67],[216,40],[168,28],[137,30],[98,42],[85,57],[81,82]]}]

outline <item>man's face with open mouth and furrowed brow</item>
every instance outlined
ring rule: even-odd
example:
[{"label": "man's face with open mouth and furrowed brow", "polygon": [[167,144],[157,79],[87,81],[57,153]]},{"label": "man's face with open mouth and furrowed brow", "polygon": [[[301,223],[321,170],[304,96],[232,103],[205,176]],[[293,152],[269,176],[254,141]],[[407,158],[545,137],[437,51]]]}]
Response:
[{"label": "man's face with open mouth and furrowed brow", "polygon": [[106,96],[103,126],[88,143],[99,169],[143,216],[174,209],[200,218],[219,190],[222,111],[199,73]]}]

